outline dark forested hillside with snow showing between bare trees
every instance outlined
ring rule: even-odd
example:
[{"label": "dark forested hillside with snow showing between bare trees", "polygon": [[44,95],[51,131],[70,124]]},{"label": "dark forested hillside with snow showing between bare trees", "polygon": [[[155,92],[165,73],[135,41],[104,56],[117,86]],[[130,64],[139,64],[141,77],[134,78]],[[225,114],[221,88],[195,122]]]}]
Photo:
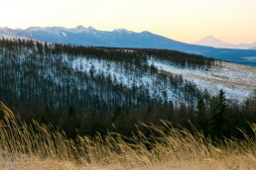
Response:
[{"label": "dark forested hillside with snow showing between bare trees", "polygon": [[[160,119],[170,120],[174,126],[188,126],[191,120],[204,132],[217,134],[214,130],[219,127],[212,129],[211,119],[218,114],[218,98],[181,75],[156,68],[151,64],[154,61],[191,70],[221,65],[213,58],[175,50],[2,39],[0,101],[25,120],[50,121],[69,136],[104,133],[112,124],[129,133],[138,122],[158,123]],[[224,94],[222,98],[226,102]],[[246,121],[255,122],[256,110],[239,117],[246,107],[255,108],[254,104],[255,99],[241,107],[230,102],[226,112],[229,105],[225,103],[220,112],[237,117],[227,125],[222,120],[223,133],[229,135],[235,124],[246,127]]]}]

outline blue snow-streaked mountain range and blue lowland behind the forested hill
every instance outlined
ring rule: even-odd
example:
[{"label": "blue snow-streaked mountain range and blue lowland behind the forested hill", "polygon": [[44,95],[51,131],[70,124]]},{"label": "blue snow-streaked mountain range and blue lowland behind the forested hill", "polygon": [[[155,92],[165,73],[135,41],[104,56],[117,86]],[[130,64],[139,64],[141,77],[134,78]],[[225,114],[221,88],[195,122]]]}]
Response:
[{"label": "blue snow-streaked mountain range and blue lowland behind the forested hill", "polygon": [[82,26],[72,29],[65,29],[63,27],[32,27],[26,30],[0,28],[0,38],[10,39],[12,37],[76,45],[173,49],[256,66],[256,50],[215,48],[177,42],[146,31],[135,33],[125,29],[118,29],[108,32]]}]

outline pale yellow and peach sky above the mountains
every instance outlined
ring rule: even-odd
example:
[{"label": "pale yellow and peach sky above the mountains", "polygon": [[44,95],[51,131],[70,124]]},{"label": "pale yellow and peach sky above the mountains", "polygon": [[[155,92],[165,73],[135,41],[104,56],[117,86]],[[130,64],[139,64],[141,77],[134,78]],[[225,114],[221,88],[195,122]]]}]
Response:
[{"label": "pale yellow and peach sky above the mountains", "polygon": [[149,31],[180,42],[256,42],[256,0],[0,0],[0,27]]}]

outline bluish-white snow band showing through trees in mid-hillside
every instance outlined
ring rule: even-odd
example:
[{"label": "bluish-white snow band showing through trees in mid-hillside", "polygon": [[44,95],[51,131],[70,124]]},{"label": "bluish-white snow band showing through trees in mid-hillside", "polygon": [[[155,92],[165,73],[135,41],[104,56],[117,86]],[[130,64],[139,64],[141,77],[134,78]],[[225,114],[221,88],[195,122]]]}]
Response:
[{"label": "bluish-white snow band showing through trees in mid-hillside", "polygon": [[185,100],[183,99],[183,96],[175,93],[171,85],[167,86],[164,82],[158,80],[158,75],[152,76],[147,73],[137,74],[136,69],[130,70],[128,73],[128,70],[125,70],[124,65],[113,61],[77,57],[74,60],[68,60],[66,63],[69,63],[68,65],[75,71],[88,73],[93,69],[95,75],[103,74],[107,77],[111,77],[113,81],[116,81],[127,88],[133,88],[133,86],[137,88],[145,88],[149,95],[155,99],[162,101],[168,100],[175,103],[180,103],[180,101]]}]

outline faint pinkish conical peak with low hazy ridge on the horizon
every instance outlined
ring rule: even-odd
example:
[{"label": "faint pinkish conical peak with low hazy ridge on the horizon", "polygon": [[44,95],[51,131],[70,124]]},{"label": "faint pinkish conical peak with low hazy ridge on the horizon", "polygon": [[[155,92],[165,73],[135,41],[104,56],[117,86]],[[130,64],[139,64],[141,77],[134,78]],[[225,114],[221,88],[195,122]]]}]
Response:
[{"label": "faint pinkish conical peak with low hazy ridge on the horizon", "polygon": [[198,42],[194,42],[194,44],[220,47],[220,48],[256,49],[256,42],[234,44],[234,43],[220,41],[212,36],[208,36]]}]

